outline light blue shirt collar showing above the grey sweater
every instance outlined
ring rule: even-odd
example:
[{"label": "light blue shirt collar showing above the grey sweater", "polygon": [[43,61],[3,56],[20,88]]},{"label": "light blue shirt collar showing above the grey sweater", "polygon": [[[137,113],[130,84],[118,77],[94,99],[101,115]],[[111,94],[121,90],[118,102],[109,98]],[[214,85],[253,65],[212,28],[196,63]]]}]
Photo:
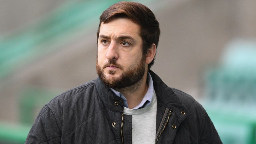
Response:
[{"label": "light blue shirt collar showing above the grey sweater", "polygon": [[[145,96],[143,97],[142,101],[140,102],[139,105],[137,105],[136,107],[134,107],[133,109],[139,109],[139,108],[144,108],[146,106],[148,106],[150,104],[150,102],[152,101],[153,98],[153,94],[154,94],[154,86],[153,86],[153,80],[151,75],[148,73],[147,75],[147,82],[148,82],[148,91],[145,94]],[[127,104],[127,100],[126,98],[118,91],[114,90],[113,88],[110,88],[117,96],[119,96],[120,98],[122,98],[124,100],[124,106],[128,108],[128,104]]]}]

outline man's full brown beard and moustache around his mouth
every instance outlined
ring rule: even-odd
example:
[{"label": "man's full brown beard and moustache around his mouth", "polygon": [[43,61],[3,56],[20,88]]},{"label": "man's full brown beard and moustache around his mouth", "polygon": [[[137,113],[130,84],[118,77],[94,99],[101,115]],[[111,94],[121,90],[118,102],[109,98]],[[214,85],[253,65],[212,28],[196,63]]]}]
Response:
[{"label": "man's full brown beard and moustache around his mouth", "polygon": [[[118,77],[113,78],[107,78],[104,73],[104,68],[109,66],[110,64],[119,67],[120,70],[122,70],[122,73]],[[136,65],[133,65],[129,67],[126,71],[123,70],[122,65],[117,64],[115,60],[109,60],[106,64],[104,64],[103,67],[100,67],[98,65],[98,56],[97,56],[97,62],[96,62],[96,70],[99,78],[102,80],[102,82],[113,88],[113,89],[121,89],[126,88],[135,85],[138,83],[145,73],[145,57],[142,57],[140,62]],[[115,71],[108,70],[109,74],[114,75]]]}]

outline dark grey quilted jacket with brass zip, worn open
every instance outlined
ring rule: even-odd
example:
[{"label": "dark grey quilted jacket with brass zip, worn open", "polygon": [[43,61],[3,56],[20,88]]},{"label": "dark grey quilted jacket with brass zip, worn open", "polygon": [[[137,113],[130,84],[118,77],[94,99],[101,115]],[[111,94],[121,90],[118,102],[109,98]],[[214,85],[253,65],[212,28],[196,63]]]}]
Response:
[{"label": "dark grey quilted jacket with brass zip, worn open", "polygon": [[[157,95],[156,143],[222,143],[205,109],[193,97],[149,72]],[[131,144],[132,115],[123,114],[123,105],[97,78],[48,102],[25,144]]]}]

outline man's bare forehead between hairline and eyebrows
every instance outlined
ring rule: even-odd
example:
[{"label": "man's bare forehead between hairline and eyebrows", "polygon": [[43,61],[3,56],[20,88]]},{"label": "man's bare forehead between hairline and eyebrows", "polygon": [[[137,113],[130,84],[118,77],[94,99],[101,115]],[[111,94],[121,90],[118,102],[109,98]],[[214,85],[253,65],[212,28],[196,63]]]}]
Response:
[{"label": "man's bare forehead between hairline and eyebrows", "polygon": [[99,35],[140,38],[140,26],[128,18],[116,18],[108,23],[102,22]]}]

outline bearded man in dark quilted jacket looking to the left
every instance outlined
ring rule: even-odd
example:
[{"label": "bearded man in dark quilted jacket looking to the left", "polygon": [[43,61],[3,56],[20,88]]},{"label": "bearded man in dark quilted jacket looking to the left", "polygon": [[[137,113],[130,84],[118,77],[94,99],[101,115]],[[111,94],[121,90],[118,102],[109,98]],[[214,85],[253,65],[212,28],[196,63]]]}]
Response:
[{"label": "bearded man in dark quilted jacket looking to the left", "polygon": [[221,143],[203,107],[149,70],[159,35],[140,3],[106,9],[97,33],[99,78],[46,104],[26,143]]}]

